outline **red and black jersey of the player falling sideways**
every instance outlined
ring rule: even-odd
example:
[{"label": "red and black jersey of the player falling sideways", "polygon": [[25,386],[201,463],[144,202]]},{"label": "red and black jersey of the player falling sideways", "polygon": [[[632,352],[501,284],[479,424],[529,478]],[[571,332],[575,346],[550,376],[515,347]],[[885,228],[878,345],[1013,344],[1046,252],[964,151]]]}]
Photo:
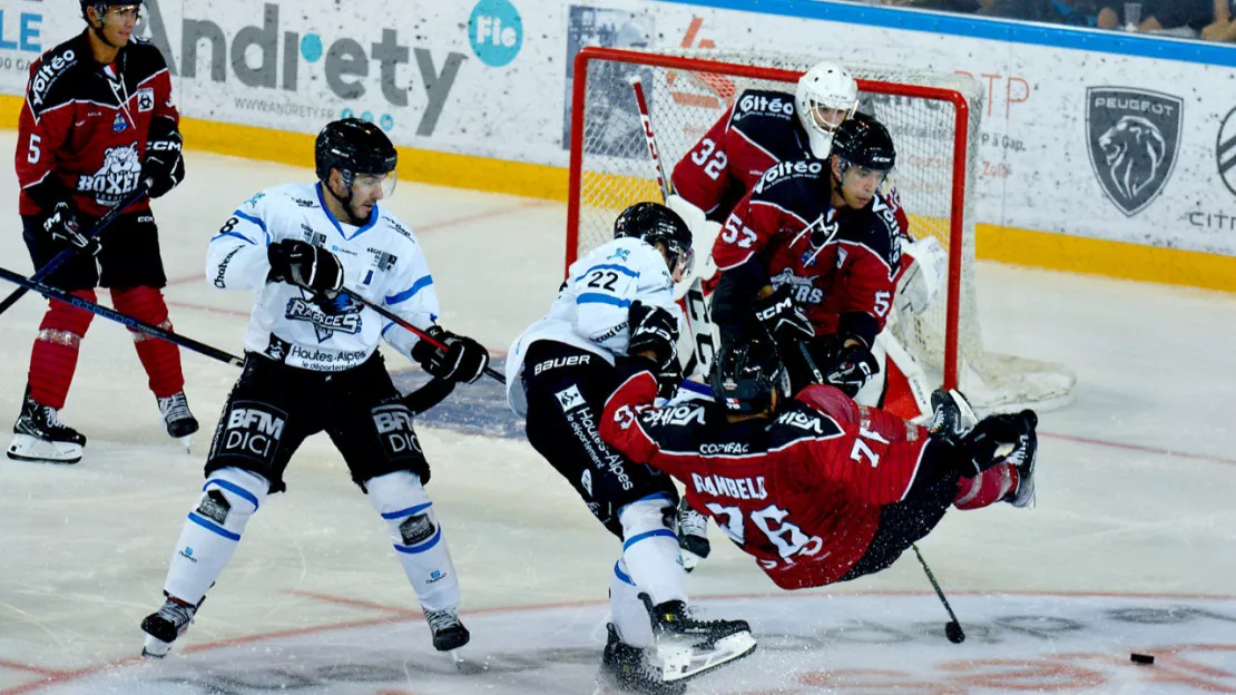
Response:
[{"label": "red and black jersey of the player falling sideways", "polygon": [[929,441],[922,427],[832,386],[805,388],[774,419],[733,423],[717,403],[654,408],[655,397],[651,372],[627,380],[606,403],[602,439],[681,480],[691,506],[781,589],[849,571],[880,507],[910,491]]}]

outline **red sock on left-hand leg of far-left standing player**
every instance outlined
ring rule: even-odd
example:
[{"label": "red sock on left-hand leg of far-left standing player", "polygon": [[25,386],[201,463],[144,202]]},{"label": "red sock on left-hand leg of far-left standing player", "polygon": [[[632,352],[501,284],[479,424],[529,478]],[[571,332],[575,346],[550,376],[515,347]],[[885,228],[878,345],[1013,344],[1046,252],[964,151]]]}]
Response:
[{"label": "red sock on left-hand leg of far-left standing player", "polygon": [[[78,289],[74,297],[94,302],[93,289]],[[73,372],[77,371],[82,338],[90,328],[94,314],[85,309],[48,299],[38,338],[30,352],[30,396],[41,406],[59,411],[64,407]]]}]

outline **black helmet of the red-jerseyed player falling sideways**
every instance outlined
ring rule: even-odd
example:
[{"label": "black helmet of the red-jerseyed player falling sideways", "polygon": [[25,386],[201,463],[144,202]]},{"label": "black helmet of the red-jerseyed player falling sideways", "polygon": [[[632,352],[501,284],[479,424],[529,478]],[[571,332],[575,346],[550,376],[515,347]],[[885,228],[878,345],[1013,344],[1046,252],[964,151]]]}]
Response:
[{"label": "black helmet of the red-jerseyed player falling sideways", "polygon": [[730,341],[721,346],[713,361],[708,386],[712,397],[734,416],[756,416],[772,409],[786,397],[790,378],[769,340]]}]

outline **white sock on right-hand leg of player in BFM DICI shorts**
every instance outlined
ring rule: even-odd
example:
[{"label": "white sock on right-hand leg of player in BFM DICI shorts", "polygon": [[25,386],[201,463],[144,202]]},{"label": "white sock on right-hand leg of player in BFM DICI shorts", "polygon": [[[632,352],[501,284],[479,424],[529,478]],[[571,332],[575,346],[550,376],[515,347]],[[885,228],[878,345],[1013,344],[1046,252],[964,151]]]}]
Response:
[{"label": "white sock on right-hand leg of player in BFM DICI shorts", "polygon": [[399,564],[421,607],[426,611],[457,607],[460,584],[455,565],[420,477],[396,471],[371,477],[365,488],[370,492],[370,505],[387,522]]}]

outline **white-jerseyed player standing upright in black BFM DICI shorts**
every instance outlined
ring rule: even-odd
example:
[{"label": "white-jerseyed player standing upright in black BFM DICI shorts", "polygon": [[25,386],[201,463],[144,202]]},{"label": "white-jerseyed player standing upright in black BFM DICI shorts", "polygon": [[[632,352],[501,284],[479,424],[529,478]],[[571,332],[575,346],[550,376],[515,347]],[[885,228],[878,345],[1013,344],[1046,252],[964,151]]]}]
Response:
[{"label": "white-jerseyed player standing upright in black BFM DICI shorts", "polygon": [[[449,391],[442,382],[477,380],[488,354],[436,325],[438,296],[417,237],[379,204],[396,176],[387,136],[357,119],[334,121],[318,135],[314,155],[318,183],[253,195],[210,241],[208,281],[256,289],[257,302],[245,334],[245,370],[206,459],[206,484],[172,554],[167,600],[142,621],[145,655],[162,657],[188,628],[250,517],[286,488],[292,454],[323,430],[384,519],[434,647],[450,650],[468,641],[455,568],[424,490],[429,465],[412,427],[414,411],[424,408],[415,393],[413,403],[400,401],[377,346],[386,339],[420,362],[435,377],[429,391],[439,398]],[[386,322],[344,287],[447,349]]]}]

